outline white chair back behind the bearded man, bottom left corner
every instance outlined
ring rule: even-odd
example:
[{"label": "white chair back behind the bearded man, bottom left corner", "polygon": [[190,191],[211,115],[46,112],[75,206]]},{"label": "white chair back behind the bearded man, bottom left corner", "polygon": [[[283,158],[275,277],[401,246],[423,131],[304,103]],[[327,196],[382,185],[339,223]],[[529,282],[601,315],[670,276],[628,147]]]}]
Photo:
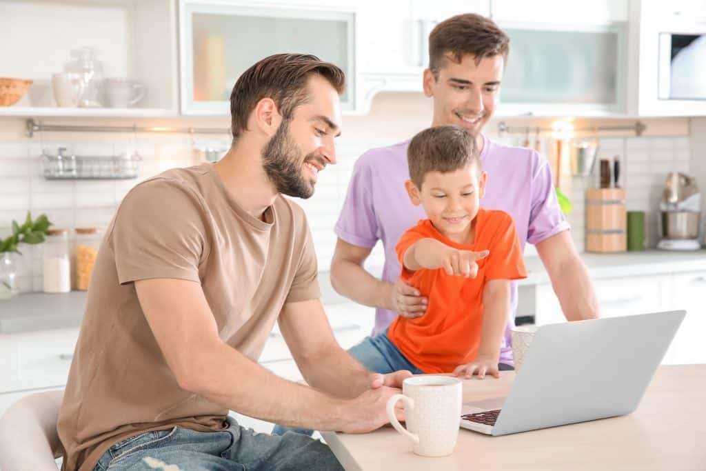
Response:
[{"label": "white chair back behind the bearded man, bottom left corner", "polygon": [[0,470],[56,471],[63,453],[56,434],[64,390],[26,395],[0,419]]}]

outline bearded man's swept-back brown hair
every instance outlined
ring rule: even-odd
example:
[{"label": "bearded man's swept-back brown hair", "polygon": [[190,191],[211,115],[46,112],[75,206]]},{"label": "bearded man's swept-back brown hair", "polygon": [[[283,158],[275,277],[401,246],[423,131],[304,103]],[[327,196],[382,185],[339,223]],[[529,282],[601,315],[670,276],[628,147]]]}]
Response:
[{"label": "bearded man's swept-back brown hair", "polygon": [[345,90],[345,73],[311,54],[274,54],[244,71],[230,94],[233,140],[248,130],[250,113],[263,98],[272,98],[282,118],[291,119],[295,108],[311,100],[306,83],[313,75],[328,80],[339,95]]}]

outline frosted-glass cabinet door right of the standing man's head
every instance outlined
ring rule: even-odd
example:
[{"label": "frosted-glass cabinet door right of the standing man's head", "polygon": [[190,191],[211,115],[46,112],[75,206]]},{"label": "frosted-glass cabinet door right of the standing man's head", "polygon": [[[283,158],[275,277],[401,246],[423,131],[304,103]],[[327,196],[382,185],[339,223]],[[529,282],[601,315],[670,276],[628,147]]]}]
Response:
[{"label": "frosted-glass cabinet door right of the standing man's head", "polygon": [[510,37],[499,114],[605,116],[624,111],[625,23],[498,24]]}]

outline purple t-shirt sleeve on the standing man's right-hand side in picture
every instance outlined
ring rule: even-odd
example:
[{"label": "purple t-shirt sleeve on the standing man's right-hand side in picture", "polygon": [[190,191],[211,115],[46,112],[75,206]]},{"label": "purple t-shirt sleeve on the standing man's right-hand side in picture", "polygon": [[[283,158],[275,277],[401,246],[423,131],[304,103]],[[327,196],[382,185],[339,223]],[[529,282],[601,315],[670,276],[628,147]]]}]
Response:
[{"label": "purple t-shirt sleeve on the standing man's right-hand side in picture", "polygon": [[538,244],[547,237],[570,229],[559,208],[549,162],[537,155],[537,172],[532,177],[532,208],[527,242]]}]

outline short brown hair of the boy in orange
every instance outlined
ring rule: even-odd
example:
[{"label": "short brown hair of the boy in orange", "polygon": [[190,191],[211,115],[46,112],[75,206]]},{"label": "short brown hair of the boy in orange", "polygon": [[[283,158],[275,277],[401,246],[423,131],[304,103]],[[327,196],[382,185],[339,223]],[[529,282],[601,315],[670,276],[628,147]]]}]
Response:
[{"label": "short brown hair of the boy in orange", "polygon": [[418,189],[429,172],[455,172],[477,165],[478,146],[473,136],[458,126],[435,126],[412,138],[407,148],[409,179]]}]

